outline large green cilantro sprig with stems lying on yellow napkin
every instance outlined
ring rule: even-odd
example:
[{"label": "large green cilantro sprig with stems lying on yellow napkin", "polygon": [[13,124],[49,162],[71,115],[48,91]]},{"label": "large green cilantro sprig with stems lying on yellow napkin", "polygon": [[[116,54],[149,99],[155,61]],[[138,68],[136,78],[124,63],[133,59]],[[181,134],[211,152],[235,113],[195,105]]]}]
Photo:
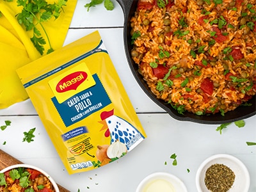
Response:
[{"label": "large green cilantro sprig with stems lying on yellow napkin", "polygon": [[50,20],[52,17],[58,19],[63,6],[66,6],[67,0],[59,0],[57,3],[49,4],[45,0],[17,0],[17,6],[22,6],[22,11],[17,14],[17,20],[20,25],[23,25],[26,28],[26,31],[33,31],[33,37],[30,38],[31,42],[35,46],[36,50],[40,54],[44,54],[46,44],[45,39],[42,37],[42,32],[38,29],[38,25],[42,28],[47,42],[49,44],[49,49],[47,54],[53,52],[49,36],[46,29],[44,28],[43,23],[47,20]]}]

